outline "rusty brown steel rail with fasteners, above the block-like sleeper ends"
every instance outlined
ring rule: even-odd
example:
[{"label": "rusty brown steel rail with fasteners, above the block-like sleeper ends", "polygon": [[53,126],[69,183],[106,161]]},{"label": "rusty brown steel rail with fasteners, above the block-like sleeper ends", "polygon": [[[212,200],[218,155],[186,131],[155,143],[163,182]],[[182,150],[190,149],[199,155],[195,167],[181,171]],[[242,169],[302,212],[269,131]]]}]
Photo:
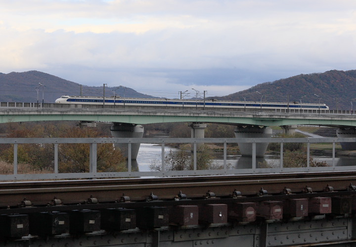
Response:
[{"label": "rusty brown steel rail with fasteners, above the block-like sleeper ends", "polygon": [[[328,188],[333,190],[333,195],[353,195],[356,192],[349,188],[350,184],[356,185],[356,171],[0,183],[0,213],[5,208],[22,208],[23,211],[23,207],[30,206],[27,204],[36,208],[56,205],[71,208],[119,206],[117,203],[123,195],[136,206],[147,201],[162,206],[171,204],[171,201],[174,204],[173,199],[180,191],[194,201],[211,194],[215,195],[212,199],[221,202],[231,199],[234,190],[249,201],[259,200],[260,197],[256,196],[259,193],[281,196],[285,188],[294,197],[321,195]],[[245,200],[243,198],[239,200]],[[96,206],[92,206],[92,201]]]}]

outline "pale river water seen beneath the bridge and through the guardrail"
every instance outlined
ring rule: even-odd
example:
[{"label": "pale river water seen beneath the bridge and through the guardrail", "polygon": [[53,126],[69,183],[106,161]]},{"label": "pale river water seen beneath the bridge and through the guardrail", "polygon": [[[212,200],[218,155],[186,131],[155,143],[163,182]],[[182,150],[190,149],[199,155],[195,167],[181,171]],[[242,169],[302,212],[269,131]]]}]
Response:
[{"label": "pale river water seen beneath the bridge and through the guardrail", "polygon": [[[146,137],[167,137],[164,133],[150,134]],[[165,154],[172,150],[177,152],[178,149],[165,146]],[[150,165],[153,163],[161,164],[161,145],[142,143],[137,155],[137,160],[133,161],[132,165],[138,166],[139,171],[150,171]],[[214,164],[223,165],[223,152],[214,152]],[[230,168],[252,168],[252,158],[242,157],[236,152],[227,151],[226,155],[227,164]],[[329,166],[332,166],[333,159],[331,156],[321,156],[321,155],[312,155],[312,159],[316,162],[326,162]],[[270,165],[279,166],[280,157],[279,155],[265,155],[264,158],[256,158],[256,164],[266,162]],[[346,166],[346,165],[356,165],[356,157],[351,156],[340,156],[335,157],[336,166]]]}]

